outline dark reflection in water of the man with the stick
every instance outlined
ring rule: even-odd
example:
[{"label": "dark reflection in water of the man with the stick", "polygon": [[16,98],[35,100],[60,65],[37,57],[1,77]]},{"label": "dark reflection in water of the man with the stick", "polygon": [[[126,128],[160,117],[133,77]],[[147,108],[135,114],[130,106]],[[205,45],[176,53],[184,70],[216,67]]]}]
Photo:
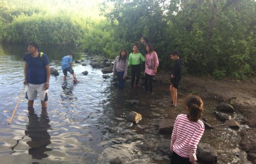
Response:
[{"label": "dark reflection in water of the man with the stick", "polygon": [[30,110],[28,113],[28,124],[25,135],[31,138],[31,141],[28,141],[27,145],[30,147],[28,153],[32,158],[38,160],[46,158],[48,155],[45,152],[52,151],[51,148],[46,147],[51,144],[51,136],[47,132],[51,128],[49,122],[50,120],[46,110],[42,110],[40,117],[35,114],[34,110]]}]

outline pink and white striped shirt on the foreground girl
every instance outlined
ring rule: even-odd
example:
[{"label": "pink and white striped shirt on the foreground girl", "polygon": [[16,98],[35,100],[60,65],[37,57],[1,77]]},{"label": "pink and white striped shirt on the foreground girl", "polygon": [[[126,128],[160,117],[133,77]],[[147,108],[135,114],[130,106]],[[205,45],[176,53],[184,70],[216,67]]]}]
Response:
[{"label": "pink and white striped shirt on the foreground girl", "polygon": [[186,115],[178,115],[171,135],[171,151],[179,156],[196,161],[196,148],[204,133],[204,123],[200,120],[191,122]]}]

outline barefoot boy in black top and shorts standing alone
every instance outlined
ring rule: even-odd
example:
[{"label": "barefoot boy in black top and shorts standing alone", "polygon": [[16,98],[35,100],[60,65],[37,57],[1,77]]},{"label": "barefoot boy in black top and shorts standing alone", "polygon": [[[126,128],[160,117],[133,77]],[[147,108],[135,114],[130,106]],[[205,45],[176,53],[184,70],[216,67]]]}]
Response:
[{"label": "barefoot boy in black top and shorts standing alone", "polygon": [[173,105],[171,106],[177,106],[177,89],[179,87],[179,82],[181,80],[181,62],[179,59],[179,52],[171,52],[170,57],[175,62],[173,67],[173,73],[171,73],[171,85],[169,88],[171,92],[171,99],[173,100]]}]

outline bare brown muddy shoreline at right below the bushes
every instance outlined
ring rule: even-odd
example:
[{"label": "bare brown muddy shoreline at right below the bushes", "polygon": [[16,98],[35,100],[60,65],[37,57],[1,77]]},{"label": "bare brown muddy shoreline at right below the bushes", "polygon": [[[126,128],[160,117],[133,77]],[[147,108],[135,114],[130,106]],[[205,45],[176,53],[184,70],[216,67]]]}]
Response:
[{"label": "bare brown muddy shoreline at right below the bushes", "polygon": [[[169,73],[157,73],[157,82],[169,84]],[[184,76],[180,82],[179,90],[196,94],[204,99],[229,103],[244,116],[240,124],[248,125],[249,128],[240,131],[241,140],[239,148],[247,152],[247,159],[256,163],[256,82],[255,79],[248,81],[223,80],[216,81],[210,78]]]}]

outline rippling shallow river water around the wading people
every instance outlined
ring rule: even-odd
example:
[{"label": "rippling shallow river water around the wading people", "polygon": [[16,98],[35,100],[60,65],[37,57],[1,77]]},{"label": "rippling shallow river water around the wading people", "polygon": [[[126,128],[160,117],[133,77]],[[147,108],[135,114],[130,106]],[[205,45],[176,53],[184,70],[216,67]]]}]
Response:
[{"label": "rippling shallow river water around the wading people", "polygon": [[[28,113],[23,94],[8,125],[22,91],[26,46],[0,44],[0,163],[107,163],[116,157],[126,163],[170,163],[169,157],[156,148],[159,143],[170,141],[170,135],[158,132],[158,123],[185,113],[182,101],[187,93],[180,93],[179,107],[170,108],[167,85],[155,83],[152,94],[142,89],[130,90],[130,85],[125,91],[118,91],[112,78],[102,78],[101,70],[88,64],[73,66],[79,83],[74,84],[71,76],[63,81],[60,60],[70,47],[41,49],[48,54],[51,67],[60,72],[60,76],[50,79],[48,110],[41,112],[37,100],[35,112]],[[76,59],[84,59],[83,54]],[[83,71],[88,75],[84,76]],[[139,103],[130,105],[127,100]],[[215,106],[216,102],[205,101],[204,117],[215,129],[205,130],[201,142],[215,148],[218,163],[250,163],[246,153],[239,150],[238,131],[214,117]],[[134,126],[125,122],[131,111],[142,115],[141,122]],[[233,117],[243,119],[239,113]],[[239,131],[245,128],[242,125]]]}]

